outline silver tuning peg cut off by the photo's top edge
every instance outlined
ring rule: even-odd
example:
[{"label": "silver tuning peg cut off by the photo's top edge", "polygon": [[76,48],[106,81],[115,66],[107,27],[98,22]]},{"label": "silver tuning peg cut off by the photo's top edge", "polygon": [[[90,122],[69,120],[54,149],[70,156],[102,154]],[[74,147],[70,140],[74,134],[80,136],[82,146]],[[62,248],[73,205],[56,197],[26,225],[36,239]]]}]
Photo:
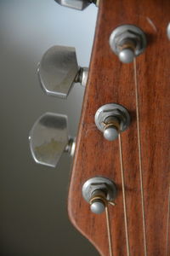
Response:
[{"label": "silver tuning peg cut off by the photo's top edge", "polygon": [[55,2],[65,7],[79,10],[85,9],[90,3],[95,3],[96,6],[99,6],[99,0],[55,0]]}]

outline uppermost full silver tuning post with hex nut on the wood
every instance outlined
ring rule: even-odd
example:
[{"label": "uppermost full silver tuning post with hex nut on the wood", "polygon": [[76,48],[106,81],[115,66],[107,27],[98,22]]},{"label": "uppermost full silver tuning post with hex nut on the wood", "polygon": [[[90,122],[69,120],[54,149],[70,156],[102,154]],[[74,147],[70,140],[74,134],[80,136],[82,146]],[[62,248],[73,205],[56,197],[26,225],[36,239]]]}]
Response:
[{"label": "uppermost full silver tuning post with hex nut on the wood", "polygon": [[110,45],[120,61],[130,63],[144,52],[146,37],[138,26],[122,25],[111,33]]}]

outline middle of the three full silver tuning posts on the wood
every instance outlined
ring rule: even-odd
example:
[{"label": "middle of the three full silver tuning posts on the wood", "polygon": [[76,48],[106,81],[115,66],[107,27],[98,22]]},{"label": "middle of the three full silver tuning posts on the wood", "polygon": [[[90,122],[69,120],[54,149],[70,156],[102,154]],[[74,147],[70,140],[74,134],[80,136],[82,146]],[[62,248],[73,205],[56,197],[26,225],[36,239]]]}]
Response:
[{"label": "middle of the three full silver tuning posts on the wood", "polygon": [[95,124],[108,141],[115,140],[119,133],[127,130],[130,115],[122,105],[110,103],[101,106],[95,113]]}]

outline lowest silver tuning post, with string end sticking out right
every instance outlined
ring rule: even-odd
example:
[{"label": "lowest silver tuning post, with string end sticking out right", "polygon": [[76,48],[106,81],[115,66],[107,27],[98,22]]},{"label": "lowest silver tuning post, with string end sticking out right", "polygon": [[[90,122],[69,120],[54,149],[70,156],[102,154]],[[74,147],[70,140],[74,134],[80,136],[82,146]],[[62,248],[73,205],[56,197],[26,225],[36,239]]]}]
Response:
[{"label": "lowest silver tuning post, with string end sticking out right", "polygon": [[96,214],[105,211],[107,204],[115,205],[116,185],[106,177],[92,177],[82,186],[82,196]]}]

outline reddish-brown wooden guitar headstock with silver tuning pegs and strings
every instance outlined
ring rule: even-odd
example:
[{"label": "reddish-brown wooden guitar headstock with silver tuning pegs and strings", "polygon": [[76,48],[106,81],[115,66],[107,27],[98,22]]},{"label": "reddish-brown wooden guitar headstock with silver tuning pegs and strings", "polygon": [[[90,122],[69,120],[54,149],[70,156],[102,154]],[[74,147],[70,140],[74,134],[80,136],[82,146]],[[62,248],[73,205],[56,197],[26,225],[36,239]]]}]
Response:
[{"label": "reddish-brown wooden guitar headstock with silver tuning pegs and strings", "polygon": [[[89,2],[72,3],[83,9]],[[43,89],[56,96],[65,97],[70,90],[60,80],[72,84],[88,76],[69,217],[102,256],[169,256],[170,3],[93,2],[99,15],[89,72],[77,66],[73,48],[60,46],[49,49],[38,67]],[[65,79],[67,73],[70,78]],[[63,150],[73,154],[75,141],[65,131],[64,115],[43,115],[31,131],[34,159],[56,166]]]}]

